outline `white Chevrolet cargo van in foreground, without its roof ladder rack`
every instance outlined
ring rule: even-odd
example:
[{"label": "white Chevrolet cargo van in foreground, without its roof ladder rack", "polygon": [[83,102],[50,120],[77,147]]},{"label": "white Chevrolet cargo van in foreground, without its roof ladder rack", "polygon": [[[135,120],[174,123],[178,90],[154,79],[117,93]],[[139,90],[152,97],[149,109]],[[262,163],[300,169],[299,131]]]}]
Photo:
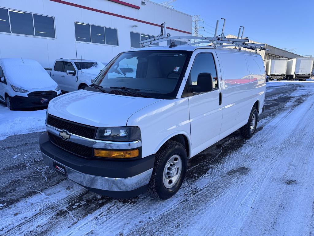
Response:
[{"label": "white Chevrolet cargo van in foreground, without its roof ladder rack", "polygon": [[85,89],[51,100],[40,149],[47,165],[116,198],[167,199],[187,160],[263,111],[261,56],[230,48],[159,46],[117,55]]}]

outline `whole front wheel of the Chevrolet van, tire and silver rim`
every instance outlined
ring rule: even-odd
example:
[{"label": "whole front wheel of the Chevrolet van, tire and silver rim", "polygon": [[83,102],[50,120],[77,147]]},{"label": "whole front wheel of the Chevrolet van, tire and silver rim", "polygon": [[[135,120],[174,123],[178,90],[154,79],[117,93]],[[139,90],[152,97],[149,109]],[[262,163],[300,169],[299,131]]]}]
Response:
[{"label": "whole front wheel of the Chevrolet van, tire and silver rim", "polygon": [[180,189],[187,171],[187,152],[181,143],[168,141],[156,153],[149,193],[168,199]]}]

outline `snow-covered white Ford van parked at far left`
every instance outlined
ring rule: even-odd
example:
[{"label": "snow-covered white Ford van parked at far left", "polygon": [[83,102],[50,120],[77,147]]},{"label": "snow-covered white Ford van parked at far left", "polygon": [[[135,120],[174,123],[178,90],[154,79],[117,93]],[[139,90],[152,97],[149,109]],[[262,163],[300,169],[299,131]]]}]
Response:
[{"label": "snow-covered white Ford van parked at far left", "polygon": [[0,101],[10,110],[45,107],[61,94],[45,69],[31,59],[0,59]]}]

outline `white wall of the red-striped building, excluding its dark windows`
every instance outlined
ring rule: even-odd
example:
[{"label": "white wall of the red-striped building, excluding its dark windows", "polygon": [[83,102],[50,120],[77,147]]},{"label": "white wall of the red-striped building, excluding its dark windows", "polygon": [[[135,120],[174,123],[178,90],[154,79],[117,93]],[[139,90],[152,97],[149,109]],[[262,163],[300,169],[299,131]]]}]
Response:
[{"label": "white wall of the red-striped building, excluding its dark windows", "polygon": [[[168,29],[167,32],[171,33],[171,36],[191,35],[192,31],[192,16],[150,1],[144,1],[146,5],[143,6],[140,0],[124,0],[124,2],[139,6],[140,9],[131,8],[108,0],[65,0],[65,2],[158,25],[166,22],[167,27],[187,32],[183,33]],[[22,57],[35,59],[44,67],[51,67],[55,59],[59,58],[77,57],[78,59],[95,59],[101,62],[109,62],[118,53],[131,48],[131,31],[148,35],[158,35],[160,33],[160,27],[155,25],[82,9],[78,6],[71,6],[51,0],[0,0],[0,8],[9,8],[54,17],[56,39],[0,32],[0,58]],[[119,45],[111,46],[75,42],[74,21],[118,29]],[[132,25],[138,25],[138,27],[132,27]]]}]

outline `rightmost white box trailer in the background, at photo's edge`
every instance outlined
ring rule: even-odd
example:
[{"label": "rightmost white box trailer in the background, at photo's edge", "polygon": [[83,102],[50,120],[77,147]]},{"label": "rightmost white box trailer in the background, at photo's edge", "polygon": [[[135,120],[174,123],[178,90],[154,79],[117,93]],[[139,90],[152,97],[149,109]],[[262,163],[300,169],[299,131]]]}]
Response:
[{"label": "rightmost white box trailer in the background, at photo's edge", "polygon": [[306,80],[311,77],[313,70],[311,57],[296,57],[287,62],[287,80]]}]

